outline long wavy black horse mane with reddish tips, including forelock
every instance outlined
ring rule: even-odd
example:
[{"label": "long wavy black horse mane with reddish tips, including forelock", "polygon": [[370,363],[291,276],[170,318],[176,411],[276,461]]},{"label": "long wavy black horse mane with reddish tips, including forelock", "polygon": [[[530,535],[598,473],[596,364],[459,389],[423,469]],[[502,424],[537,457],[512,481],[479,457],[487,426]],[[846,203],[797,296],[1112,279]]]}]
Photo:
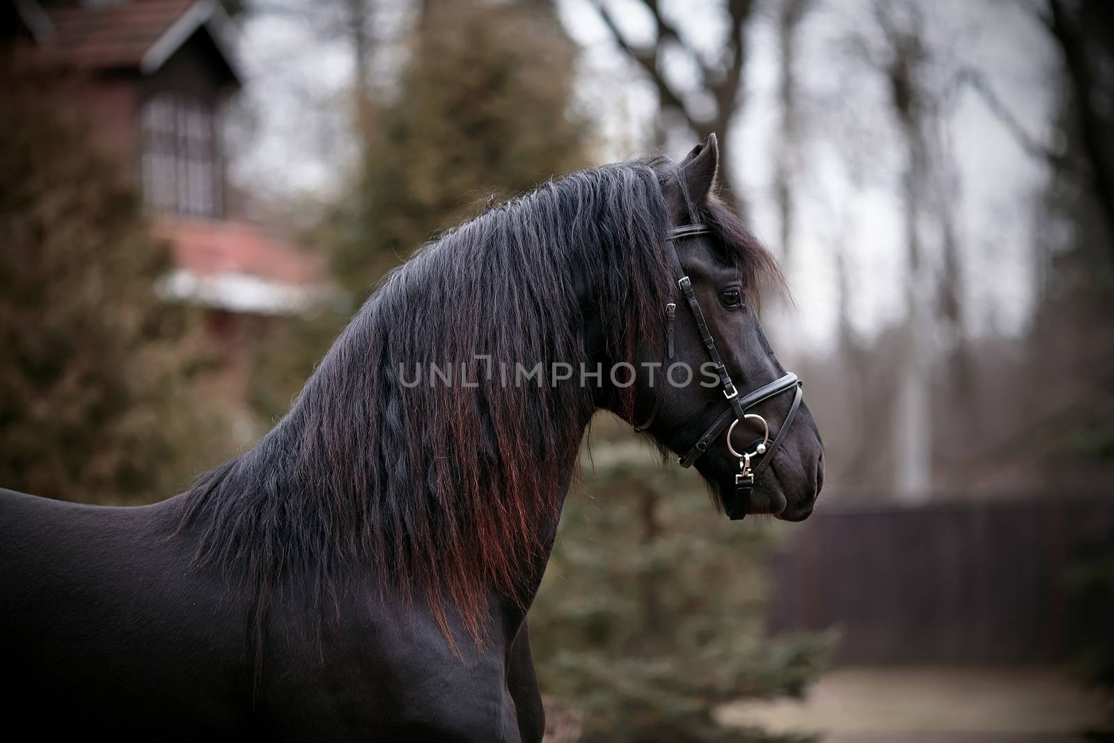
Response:
[{"label": "long wavy black horse mane with reddish tips, including forelock", "polygon": [[[577,384],[501,384],[487,364],[577,368],[588,315],[607,319],[612,361],[633,362],[636,342],[656,348],[672,287],[662,184],[674,172],[576,173],[419,250],[275,429],[186,493],[179,530],[199,535],[198,560],[246,584],[257,620],[291,581],[328,600],[371,564],[429,600],[447,633],[451,608],[481,639],[489,592],[518,596],[521,566],[544,548],[534,527],[556,515],[594,405]],[[713,201],[701,217],[749,286],[775,272],[730,211]],[[449,363],[477,387],[407,383]]]}]

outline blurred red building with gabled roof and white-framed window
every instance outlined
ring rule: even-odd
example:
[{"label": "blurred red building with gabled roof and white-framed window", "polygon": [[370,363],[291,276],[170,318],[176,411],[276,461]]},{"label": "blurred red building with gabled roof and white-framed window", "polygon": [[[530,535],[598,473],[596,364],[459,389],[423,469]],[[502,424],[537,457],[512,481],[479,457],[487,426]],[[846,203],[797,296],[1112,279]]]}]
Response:
[{"label": "blurred red building with gabled roof and white-framed window", "polygon": [[215,0],[0,9],[0,50],[16,69],[62,76],[65,100],[141,193],[174,248],[162,293],[205,309],[236,389],[241,341],[330,290],[319,256],[229,214],[221,113],[241,87],[232,32]]}]

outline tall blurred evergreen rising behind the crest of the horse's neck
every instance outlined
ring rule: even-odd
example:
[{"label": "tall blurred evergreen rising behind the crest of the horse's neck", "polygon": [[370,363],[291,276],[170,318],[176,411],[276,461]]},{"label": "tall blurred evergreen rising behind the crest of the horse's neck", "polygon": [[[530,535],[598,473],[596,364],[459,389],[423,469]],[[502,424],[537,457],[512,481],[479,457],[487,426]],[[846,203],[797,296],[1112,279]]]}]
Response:
[{"label": "tall blurred evergreen rising behind the crest of the horse's neck", "polygon": [[372,111],[359,183],[331,221],[342,284],[365,295],[477,203],[585,167],[575,51],[548,3],[422,3],[398,96]]}]

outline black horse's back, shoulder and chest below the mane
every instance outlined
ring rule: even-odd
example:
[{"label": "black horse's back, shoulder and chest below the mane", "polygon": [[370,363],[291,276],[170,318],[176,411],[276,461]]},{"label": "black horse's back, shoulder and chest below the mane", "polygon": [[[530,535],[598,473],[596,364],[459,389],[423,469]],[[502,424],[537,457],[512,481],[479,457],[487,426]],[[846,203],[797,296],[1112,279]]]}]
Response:
[{"label": "black horse's back, shoulder and chest below the mane", "polygon": [[341,597],[320,635],[305,589],[286,586],[256,675],[250,602],[192,567],[195,540],[175,535],[182,501],[114,508],[0,489],[16,715],[55,734],[540,740],[525,617],[495,597],[505,626],[455,655],[428,607],[375,580]]}]

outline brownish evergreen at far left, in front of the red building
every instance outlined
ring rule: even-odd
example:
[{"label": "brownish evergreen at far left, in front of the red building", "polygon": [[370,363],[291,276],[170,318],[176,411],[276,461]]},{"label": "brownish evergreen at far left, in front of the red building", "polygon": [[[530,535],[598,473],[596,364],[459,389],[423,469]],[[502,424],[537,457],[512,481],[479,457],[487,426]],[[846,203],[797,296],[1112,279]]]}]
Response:
[{"label": "brownish evergreen at far left, in front of the red building", "polygon": [[165,498],[224,427],[194,395],[188,313],[156,295],[167,246],[49,82],[0,70],[0,485]]}]

